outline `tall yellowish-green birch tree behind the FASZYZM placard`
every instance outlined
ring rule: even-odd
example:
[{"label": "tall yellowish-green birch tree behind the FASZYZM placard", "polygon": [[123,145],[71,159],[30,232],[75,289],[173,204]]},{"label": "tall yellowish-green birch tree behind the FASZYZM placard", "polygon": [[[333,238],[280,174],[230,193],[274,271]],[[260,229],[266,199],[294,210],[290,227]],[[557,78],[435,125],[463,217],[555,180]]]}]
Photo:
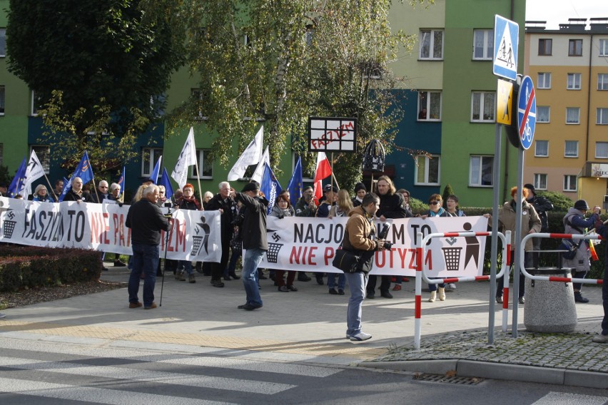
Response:
[{"label": "tall yellowish-green birch tree behind the FASZYZM placard", "polygon": [[[427,0],[410,0],[425,3]],[[387,64],[412,38],[393,32],[390,0],[184,0],[187,58],[198,93],[176,109],[171,130],[196,116],[218,136],[212,158],[223,164],[250,142],[259,121],[277,166],[290,152],[305,155],[309,116],[358,119],[358,151],[341,153],[340,186],[361,178],[361,153],[378,139],[395,150],[402,118],[401,78]],[[310,166],[314,158],[304,160]],[[306,171],[306,168],[305,168]]]}]

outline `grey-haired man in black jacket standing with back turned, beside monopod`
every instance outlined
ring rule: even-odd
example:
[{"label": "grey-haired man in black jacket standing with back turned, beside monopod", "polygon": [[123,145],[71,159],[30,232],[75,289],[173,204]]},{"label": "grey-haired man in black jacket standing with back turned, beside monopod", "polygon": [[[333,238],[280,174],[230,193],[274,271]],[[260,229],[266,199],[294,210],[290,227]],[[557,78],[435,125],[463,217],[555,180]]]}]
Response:
[{"label": "grey-haired man in black jacket standing with back turned, beside monopod", "polygon": [[143,190],[143,198],[131,205],[126,217],[126,226],[131,228],[131,247],[133,248],[133,269],[128,279],[128,307],[142,306],[137,297],[139,280],[143,272],[143,309],[156,308],[154,303],[154,284],[158,268],[161,230],[169,230],[169,222],[156,205],[158,186],[148,185]]}]

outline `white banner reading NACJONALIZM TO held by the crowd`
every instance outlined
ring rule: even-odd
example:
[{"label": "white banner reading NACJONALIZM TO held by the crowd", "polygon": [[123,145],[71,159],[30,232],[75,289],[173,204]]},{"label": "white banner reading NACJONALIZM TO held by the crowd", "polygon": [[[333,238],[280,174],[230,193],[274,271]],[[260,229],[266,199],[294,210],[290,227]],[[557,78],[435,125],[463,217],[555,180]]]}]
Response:
[{"label": "white banner reading NACJONALIZM TO held by the crowd", "polygon": [[[333,272],[335,249],[344,236],[347,218],[268,217],[268,245],[260,267],[304,272]],[[376,252],[372,274],[415,276],[416,234],[435,232],[485,232],[485,217],[407,218],[388,220],[387,240],[392,249]],[[378,227],[382,222],[376,221]],[[424,257],[429,277],[482,275],[485,237],[437,237]]]}]

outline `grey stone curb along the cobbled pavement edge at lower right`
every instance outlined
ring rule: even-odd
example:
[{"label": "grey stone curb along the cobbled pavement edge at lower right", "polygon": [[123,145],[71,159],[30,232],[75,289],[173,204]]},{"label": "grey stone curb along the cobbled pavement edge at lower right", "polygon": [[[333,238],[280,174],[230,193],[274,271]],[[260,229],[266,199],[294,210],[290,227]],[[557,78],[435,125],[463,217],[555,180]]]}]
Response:
[{"label": "grey stone curb along the cobbled pavement edge at lower right", "polygon": [[444,359],[360,362],[357,366],[425,374],[446,374],[448,371],[456,371],[456,375],[462,377],[480,377],[485,379],[608,389],[607,373],[570,369],[551,369],[547,367],[522,366],[518,364]]}]

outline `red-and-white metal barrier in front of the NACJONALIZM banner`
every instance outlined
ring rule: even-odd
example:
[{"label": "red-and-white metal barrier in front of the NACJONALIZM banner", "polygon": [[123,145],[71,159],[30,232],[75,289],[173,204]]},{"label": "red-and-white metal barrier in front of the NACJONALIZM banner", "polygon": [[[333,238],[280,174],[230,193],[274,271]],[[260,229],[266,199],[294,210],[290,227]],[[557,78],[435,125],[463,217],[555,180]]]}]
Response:
[{"label": "red-and-white metal barrier in front of the NACJONALIZM banner", "polygon": [[[426,237],[422,237],[422,232],[417,233],[417,246],[416,246],[416,296],[415,296],[415,319],[414,319],[414,348],[420,349],[420,335],[422,332],[422,280],[429,284],[442,284],[451,282],[470,282],[479,280],[490,280],[490,276],[475,276],[475,277],[447,277],[447,278],[435,278],[430,279],[425,273],[424,259],[426,255],[427,242],[433,237],[472,237],[472,236],[491,236],[492,232],[444,232],[444,233],[430,233]],[[502,266],[500,272],[496,277],[500,277],[505,274],[508,266],[510,265],[511,255],[507,254],[511,249],[511,231],[507,231],[506,235],[497,232],[498,237],[502,240]],[[420,273],[418,273],[420,272]],[[507,282],[507,290],[509,285],[509,278],[505,277]],[[503,307],[503,324],[505,324],[506,331],[506,320],[507,320],[507,306]]]}]

